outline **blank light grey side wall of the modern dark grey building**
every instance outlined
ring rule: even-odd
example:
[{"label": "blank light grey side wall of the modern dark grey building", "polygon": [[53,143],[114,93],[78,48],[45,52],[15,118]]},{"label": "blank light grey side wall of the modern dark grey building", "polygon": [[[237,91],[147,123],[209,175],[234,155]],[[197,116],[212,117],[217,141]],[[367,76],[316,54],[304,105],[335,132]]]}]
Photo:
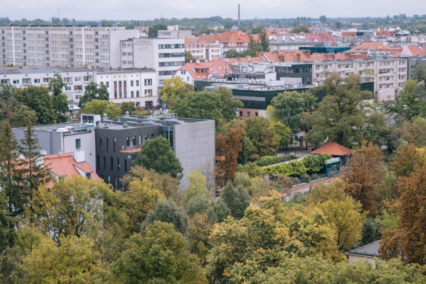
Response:
[{"label": "blank light grey side wall of the modern dark grey building", "polygon": [[183,167],[180,188],[188,186],[187,175],[206,162],[214,164],[214,120],[204,120],[173,126],[173,150]]}]

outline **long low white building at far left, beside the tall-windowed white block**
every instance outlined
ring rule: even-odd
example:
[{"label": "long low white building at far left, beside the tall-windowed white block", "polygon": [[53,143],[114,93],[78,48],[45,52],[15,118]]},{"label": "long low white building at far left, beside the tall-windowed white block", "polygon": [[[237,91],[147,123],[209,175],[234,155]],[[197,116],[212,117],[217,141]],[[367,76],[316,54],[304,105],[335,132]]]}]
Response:
[{"label": "long low white building at far left, beside the tall-windowed white block", "polygon": [[93,81],[93,70],[85,67],[40,67],[40,68],[0,68],[0,82],[12,84],[17,88],[48,86],[54,73],[59,73],[66,83],[62,91],[68,101],[79,101],[84,94],[85,86]]}]

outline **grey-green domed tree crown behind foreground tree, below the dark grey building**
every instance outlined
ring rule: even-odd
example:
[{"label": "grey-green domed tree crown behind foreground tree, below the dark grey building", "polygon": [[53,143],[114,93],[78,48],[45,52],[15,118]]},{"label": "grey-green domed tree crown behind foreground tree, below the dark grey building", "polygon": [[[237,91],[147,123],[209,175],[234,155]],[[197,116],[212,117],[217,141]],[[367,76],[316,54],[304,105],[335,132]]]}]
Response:
[{"label": "grey-green domed tree crown behind foreground tree, below the dark grey building", "polygon": [[174,229],[184,234],[188,229],[188,216],[182,207],[176,205],[172,200],[158,200],[155,208],[151,210],[140,228],[143,233],[146,226],[154,221],[167,222],[174,225]]}]

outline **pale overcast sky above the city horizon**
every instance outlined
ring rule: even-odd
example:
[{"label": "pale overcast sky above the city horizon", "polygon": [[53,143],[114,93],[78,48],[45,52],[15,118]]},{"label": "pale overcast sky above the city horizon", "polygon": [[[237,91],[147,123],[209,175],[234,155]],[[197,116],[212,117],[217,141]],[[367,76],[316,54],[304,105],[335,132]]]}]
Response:
[{"label": "pale overcast sky above the city horizon", "polygon": [[69,19],[137,19],[210,17],[242,19],[306,16],[385,17],[426,13],[424,0],[1,0],[0,17],[48,20],[52,16]]}]

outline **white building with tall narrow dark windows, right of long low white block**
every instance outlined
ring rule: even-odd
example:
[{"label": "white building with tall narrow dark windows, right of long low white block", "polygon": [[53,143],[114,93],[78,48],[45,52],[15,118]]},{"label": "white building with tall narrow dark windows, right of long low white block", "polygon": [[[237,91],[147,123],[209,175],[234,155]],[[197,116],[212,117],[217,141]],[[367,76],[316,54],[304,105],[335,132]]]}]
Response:
[{"label": "white building with tall narrow dark windows, right of long low white block", "polygon": [[94,71],[94,81],[106,86],[110,102],[132,101],[144,109],[153,109],[157,105],[158,86],[154,69],[99,68]]}]

